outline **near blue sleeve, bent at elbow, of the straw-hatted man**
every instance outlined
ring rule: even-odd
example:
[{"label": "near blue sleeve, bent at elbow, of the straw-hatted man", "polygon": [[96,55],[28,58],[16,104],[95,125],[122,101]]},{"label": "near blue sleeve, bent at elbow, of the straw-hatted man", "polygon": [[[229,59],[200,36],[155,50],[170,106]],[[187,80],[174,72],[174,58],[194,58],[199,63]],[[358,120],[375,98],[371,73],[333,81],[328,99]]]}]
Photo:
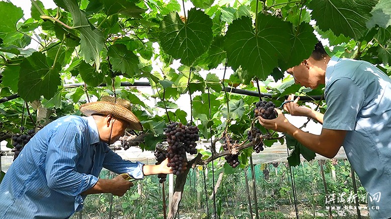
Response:
[{"label": "near blue sleeve, bent at elbow, of the straw-hatted man", "polygon": [[80,193],[94,186],[98,180],[93,175],[76,171],[83,140],[83,134],[76,125],[63,124],[53,130],[46,156],[48,187],[61,194],[74,196],[76,211],[82,206]]}]

